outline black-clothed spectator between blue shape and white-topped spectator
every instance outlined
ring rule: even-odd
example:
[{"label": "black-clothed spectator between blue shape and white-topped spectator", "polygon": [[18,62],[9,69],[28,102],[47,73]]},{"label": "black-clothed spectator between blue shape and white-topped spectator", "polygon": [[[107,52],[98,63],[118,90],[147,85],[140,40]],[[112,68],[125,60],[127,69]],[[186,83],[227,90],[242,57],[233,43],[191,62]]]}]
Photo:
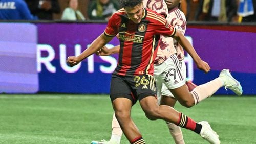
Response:
[{"label": "black-clothed spectator between blue shape and white-topped spectator", "polygon": [[53,13],[60,13],[58,0],[25,0],[31,13],[40,20],[53,20]]}]

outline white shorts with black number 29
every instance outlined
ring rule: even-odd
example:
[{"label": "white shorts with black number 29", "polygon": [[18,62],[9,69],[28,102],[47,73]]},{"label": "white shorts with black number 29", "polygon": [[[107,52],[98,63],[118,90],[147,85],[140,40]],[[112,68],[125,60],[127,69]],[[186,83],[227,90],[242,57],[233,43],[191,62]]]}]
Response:
[{"label": "white shorts with black number 29", "polygon": [[179,60],[176,54],[170,56],[162,64],[154,65],[154,69],[158,102],[160,102],[161,95],[174,97],[169,89],[181,87],[186,83],[186,64],[184,60]]}]

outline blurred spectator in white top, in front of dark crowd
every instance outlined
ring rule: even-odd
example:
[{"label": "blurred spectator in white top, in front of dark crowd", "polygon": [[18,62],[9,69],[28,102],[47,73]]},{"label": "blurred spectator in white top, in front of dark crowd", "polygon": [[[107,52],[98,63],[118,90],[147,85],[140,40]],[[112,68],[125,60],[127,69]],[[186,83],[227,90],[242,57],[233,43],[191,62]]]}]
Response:
[{"label": "blurred spectator in white top, in front of dark crowd", "polygon": [[78,10],[78,0],[69,0],[69,6],[63,11],[61,20],[86,20]]}]

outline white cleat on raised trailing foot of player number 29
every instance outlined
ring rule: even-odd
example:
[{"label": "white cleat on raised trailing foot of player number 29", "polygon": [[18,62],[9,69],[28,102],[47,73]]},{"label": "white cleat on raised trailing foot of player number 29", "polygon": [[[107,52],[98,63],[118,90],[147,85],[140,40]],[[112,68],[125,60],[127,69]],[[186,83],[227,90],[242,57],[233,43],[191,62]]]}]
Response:
[{"label": "white cleat on raised trailing foot of player number 29", "polygon": [[232,90],[234,93],[236,93],[237,95],[242,95],[243,93],[242,86],[240,85],[239,81],[237,81],[232,77],[232,75],[229,72],[229,69],[221,70],[219,77],[224,81],[224,86],[226,90],[228,88]]}]

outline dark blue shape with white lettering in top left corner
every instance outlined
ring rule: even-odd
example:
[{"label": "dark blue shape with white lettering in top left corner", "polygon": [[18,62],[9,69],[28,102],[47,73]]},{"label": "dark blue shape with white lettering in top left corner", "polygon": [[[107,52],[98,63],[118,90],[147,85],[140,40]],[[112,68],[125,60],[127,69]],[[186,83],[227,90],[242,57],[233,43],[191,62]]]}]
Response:
[{"label": "dark blue shape with white lettering in top left corner", "polygon": [[1,20],[33,20],[36,19],[23,0],[0,0]]}]

